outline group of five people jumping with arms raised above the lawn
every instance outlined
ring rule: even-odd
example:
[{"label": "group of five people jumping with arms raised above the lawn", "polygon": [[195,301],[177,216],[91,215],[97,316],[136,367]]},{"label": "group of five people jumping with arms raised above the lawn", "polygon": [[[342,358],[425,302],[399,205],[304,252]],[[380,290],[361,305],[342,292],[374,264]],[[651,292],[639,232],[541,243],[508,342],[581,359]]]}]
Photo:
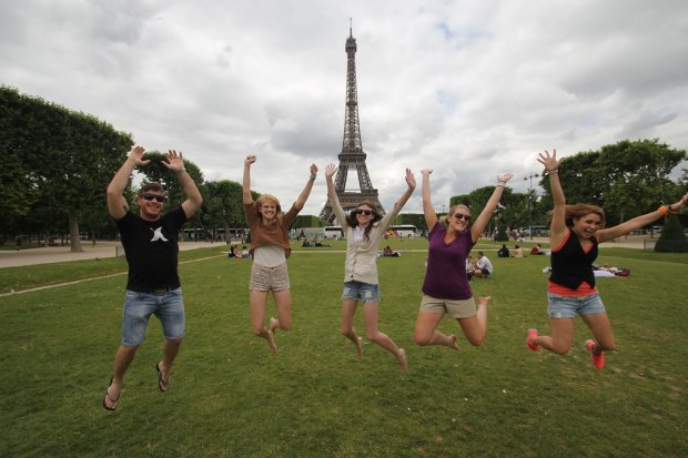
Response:
[{"label": "group of five people jumping with arms raised above the lawn", "polygon": [[[129,211],[123,197],[124,189],[136,166],[148,163],[145,150],[134,146],[124,164],[108,186],[108,206],[121,232],[129,263],[129,277],[122,314],[122,338],[115,353],[110,385],[102,399],[103,408],[117,409],[123,388],[124,374],[133,362],[138,347],[144,339],[151,315],[162,323],[164,347],[162,359],[155,364],[158,387],[166,391],[170,374],[184,336],[185,315],[178,275],[178,233],[201,206],[202,196],[184,169],[182,153],[170,150],[163,165],[176,173],[184,191],[181,206],[163,214],[166,196],[160,183],[141,186],[136,203],[139,213]],[[277,353],[275,335],[279,329],[289,330],[292,322],[291,291],[286,259],[291,254],[287,231],[308,199],[317,177],[318,167],[310,165],[310,176],[296,201],[284,211],[280,201],[262,194],[255,201],[251,194],[251,167],[256,156],[247,155],[243,171],[243,206],[251,231],[250,254],[253,258],[249,284],[249,307],[253,333],[265,339],[271,354]],[[614,227],[605,227],[604,211],[595,205],[567,205],[558,179],[560,160],[556,150],[539,155],[549,175],[554,210],[552,212],[550,248],[552,275],[549,277],[548,311],[550,336],[539,335],[537,329],[527,330],[526,345],[533,352],[545,348],[566,354],[573,343],[574,320],[580,315],[593,333],[586,346],[595,367],[604,367],[604,352],[616,349],[611,325],[605,306],[595,287],[593,262],[599,243],[610,241],[633,230],[678,212],[688,201],[688,194],[672,205],[637,216]],[[377,257],[386,228],[394,221],[416,189],[413,172],[406,169],[406,190],[393,208],[382,215],[371,202],[361,202],[350,212],[340,204],[333,182],[335,164],[325,167],[325,181],[330,204],[342,224],[346,236],[346,259],[341,295],[341,333],[354,345],[356,354],[363,355],[363,337],[354,327],[354,317],[363,304],[364,336],[380,345],[396,359],[402,372],[407,370],[406,352],[378,328],[380,289]],[[429,231],[428,256],[417,313],[414,342],[421,346],[442,345],[457,350],[457,335],[446,335],[437,329],[448,315],[459,325],[466,340],[479,346],[487,332],[487,308],[490,296],[474,298],[466,273],[465,262],[471,250],[487,226],[497,207],[510,173],[497,176],[497,184],[485,207],[475,218],[466,205],[455,205],[446,216],[437,217],[431,201],[431,169],[421,170],[423,214]],[[473,222],[473,224],[472,224]],[[492,263],[478,252],[473,275],[489,275]],[[269,295],[272,293],[276,318],[266,320]]]}]

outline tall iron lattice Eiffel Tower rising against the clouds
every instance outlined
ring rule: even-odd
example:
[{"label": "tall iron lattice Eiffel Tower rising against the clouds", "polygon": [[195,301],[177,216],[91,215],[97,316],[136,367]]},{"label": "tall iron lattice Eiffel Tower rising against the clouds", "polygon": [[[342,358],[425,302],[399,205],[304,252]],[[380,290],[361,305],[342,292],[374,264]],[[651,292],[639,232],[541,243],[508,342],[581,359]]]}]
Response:
[{"label": "tall iron lattice Eiffel Tower rising against the clouds", "polygon": [[[380,200],[377,190],[373,187],[371,175],[365,165],[366,154],[363,152],[361,143],[361,125],[358,123],[358,95],[356,90],[356,39],[353,37],[352,27],[348,28],[346,39],[346,109],[344,114],[344,141],[340,153],[340,166],[334,180],[334,189],[340,199],[340,204],[347,211],[355,208],[361,202],[370,202],[378,207],[382,214],[385,213]],[[355,170],[358,175],[358,191],[346,189],[346,179],[350,170]],[[334,212],[330,202],[325,204],[320,213],[320,218],[332,223]],[[341,222],[340,222],[341,223]]]}]

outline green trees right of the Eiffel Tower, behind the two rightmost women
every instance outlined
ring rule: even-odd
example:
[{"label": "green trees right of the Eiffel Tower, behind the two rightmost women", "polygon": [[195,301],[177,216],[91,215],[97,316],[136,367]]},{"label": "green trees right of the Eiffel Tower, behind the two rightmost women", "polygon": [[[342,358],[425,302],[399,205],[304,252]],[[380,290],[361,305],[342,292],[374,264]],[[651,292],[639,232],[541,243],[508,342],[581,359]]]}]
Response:
[{"label": "green trees right of the Eiffel Tower, behind the two rightmost women", "polygon": [[[624,140],[599,151],[581,152],[564,157],[559,180],[569,203],[589,203],[605,208],[607,223],[619,224],[656,210],[662,202],[674,203],[686,193],[688,170],[677,181],[669,174],[686,160],[686,151],[676,150],[659,140]],[[542,171],[544,172],[544,170]],[[497,208],[495,224],[502,237],[506,227],[549,225],[553,208],[549,177],[538,173],[542,195],[535,190],[514,193],[506,189]],[[495,186],[485,186],[469,194],[455,195],[458,203],[479,213]],[[504,238],[506,240],[506,238]]]}]

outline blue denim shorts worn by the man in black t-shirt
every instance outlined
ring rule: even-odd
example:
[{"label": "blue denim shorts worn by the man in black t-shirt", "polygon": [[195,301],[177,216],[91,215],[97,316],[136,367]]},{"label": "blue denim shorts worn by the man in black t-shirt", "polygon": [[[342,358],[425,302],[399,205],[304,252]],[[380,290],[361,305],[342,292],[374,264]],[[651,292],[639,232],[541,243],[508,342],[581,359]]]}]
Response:
[{"label": "blue denim shorts worn by the man in black t-shirt", "polygon": [[122,311],[122,345],[135,347],[145,339],[151,315],[162,323],[162,334],[169,340],[184,337],[184,299],[182,288],[161,294],[127,291]]}]

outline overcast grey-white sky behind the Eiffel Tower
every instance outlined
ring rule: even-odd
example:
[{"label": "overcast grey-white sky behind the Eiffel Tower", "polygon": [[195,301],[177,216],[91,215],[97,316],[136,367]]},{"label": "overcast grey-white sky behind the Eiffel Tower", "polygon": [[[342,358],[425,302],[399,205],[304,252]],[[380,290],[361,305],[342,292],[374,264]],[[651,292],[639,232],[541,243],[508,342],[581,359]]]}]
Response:
[{"label": "overcast grey-white sky behind the Eiffel Tower", "polygon": [[688,149],[686,0],[0,0],[0,84],[181,150],[209,181],[241,182],[255,154],[252,187],[283,205],[314,162],[302,214],[318,214],[342,149],[350,18],[386,208],[405,167],[418,189],[404,211],[421,212],[424,167],[439,208],[504,172],[525,192],[545,149]]}]

